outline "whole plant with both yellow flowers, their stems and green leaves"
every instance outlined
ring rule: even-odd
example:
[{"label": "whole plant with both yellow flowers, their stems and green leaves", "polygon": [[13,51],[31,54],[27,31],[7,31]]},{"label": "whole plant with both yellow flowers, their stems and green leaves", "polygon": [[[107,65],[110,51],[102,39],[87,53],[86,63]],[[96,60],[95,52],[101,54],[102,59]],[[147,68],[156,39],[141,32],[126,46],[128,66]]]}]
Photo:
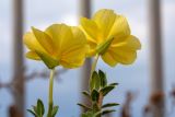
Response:
[{"label": "whole plant with both yellow flowers, their stems and green leaves", "polygon": [[[117,63],[130,65],[137,58],[137,50],[141,48],[139,39],[131,35],[126,17],[107,9],[97,11],[92,19],[81,17],[79,26],[52,24],[45,31],[32,27],[32,32],[24,35],[24,44],[30,49],[27,58],[42,60],[50,69],[47,117],[55,117],[58,112],[58,106],[52,102],[56,67],[78,68],[86,57],[95,57],[90,74],[90,89],[83,92],[91,105],[78,105],[86,109],[82,117],[101,117],[114,112],[106,108],[118,105],[103,104],[104,97],[118,83],[108,83],[102,70],[95,71],[98,58],[110,67]],[[35,117],[43,117],[45,107],[42,100],[37,101],[33,109],[27,110]]]}]

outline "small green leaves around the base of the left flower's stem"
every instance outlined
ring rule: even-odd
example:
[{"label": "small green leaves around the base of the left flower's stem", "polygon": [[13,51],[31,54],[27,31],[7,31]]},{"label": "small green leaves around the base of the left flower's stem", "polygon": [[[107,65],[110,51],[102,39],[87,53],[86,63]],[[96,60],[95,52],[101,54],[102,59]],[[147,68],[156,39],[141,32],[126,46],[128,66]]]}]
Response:
[{"label": "small green leaves around the base of the left flower's stem", "polygon": [[[27,109],[34,117],[44,117],[45,115],[45,106],[42,100],[37,100],[36,106],[33,106],[32,109]],[[58,112],[58,106],[54,106],[51,109],[51,117],[55,117]]]}]

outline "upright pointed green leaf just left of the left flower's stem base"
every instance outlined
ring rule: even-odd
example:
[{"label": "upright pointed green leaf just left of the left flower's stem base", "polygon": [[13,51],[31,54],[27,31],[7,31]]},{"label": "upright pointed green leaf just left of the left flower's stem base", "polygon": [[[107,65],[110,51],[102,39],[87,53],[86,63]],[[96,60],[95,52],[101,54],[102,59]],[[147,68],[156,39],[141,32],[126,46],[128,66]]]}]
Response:
[{"label": "upright pointed green leaf just left of the left flower's stem base", "polygon": [[44,104],[42,102],[42,100],[37,100],[37,114],[43,117],[43,115],[45,114],[45,107]]}]

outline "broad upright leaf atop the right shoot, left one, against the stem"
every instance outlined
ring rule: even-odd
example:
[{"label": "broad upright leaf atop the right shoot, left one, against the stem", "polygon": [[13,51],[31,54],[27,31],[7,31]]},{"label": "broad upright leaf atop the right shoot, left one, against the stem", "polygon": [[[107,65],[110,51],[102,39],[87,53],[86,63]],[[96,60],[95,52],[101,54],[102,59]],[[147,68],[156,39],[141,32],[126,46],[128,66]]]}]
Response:
[{"label": "broad upright leaf atop the right shoot, left one, against the stem", "polygon": [[101,85],[100,77],[98,77],[97,72],[94,71],[91,79],[90,79],[90,89],[91,89],[91,91],[94,89],[98,90],[100,85]]}]

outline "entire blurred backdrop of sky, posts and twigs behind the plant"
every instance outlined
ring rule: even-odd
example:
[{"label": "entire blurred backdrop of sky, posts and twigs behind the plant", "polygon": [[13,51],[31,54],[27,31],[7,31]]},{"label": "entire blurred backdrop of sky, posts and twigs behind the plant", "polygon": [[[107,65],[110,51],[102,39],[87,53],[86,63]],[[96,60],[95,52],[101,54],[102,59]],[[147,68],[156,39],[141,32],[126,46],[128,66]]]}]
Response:
[{"label": "entire blurred backdrop of sky, posts and twigs behind the plant", "polygon": [[[108,117],[151,117],[145,113],[151,112],[150,102],[154,105],[156,101],[154,106],[161,106],[153,113],[161,115],[152,117],[175,117],[174,0],[0,0],[0,117],[31,117],[26,108],[37,98],[47,105],[48,71],[44,63],[24,58],[22,35],[31,26],[78,25],[80,16],[90,17],[104,8],[125,15],[132,35],[142,44],[131,66],[110,68],[102,60],[97,65],[107,72],[109,82],[119,83],[104,101],[120,104]],[[89,72],[90,63],[88,60],[85,67],[74,70],[57,68],[60,74],[56,75],[54,101],[60,107],[58,117],[80,115],[77,103],[85,102],[81,91],[86,78],[82,75]]]}]

